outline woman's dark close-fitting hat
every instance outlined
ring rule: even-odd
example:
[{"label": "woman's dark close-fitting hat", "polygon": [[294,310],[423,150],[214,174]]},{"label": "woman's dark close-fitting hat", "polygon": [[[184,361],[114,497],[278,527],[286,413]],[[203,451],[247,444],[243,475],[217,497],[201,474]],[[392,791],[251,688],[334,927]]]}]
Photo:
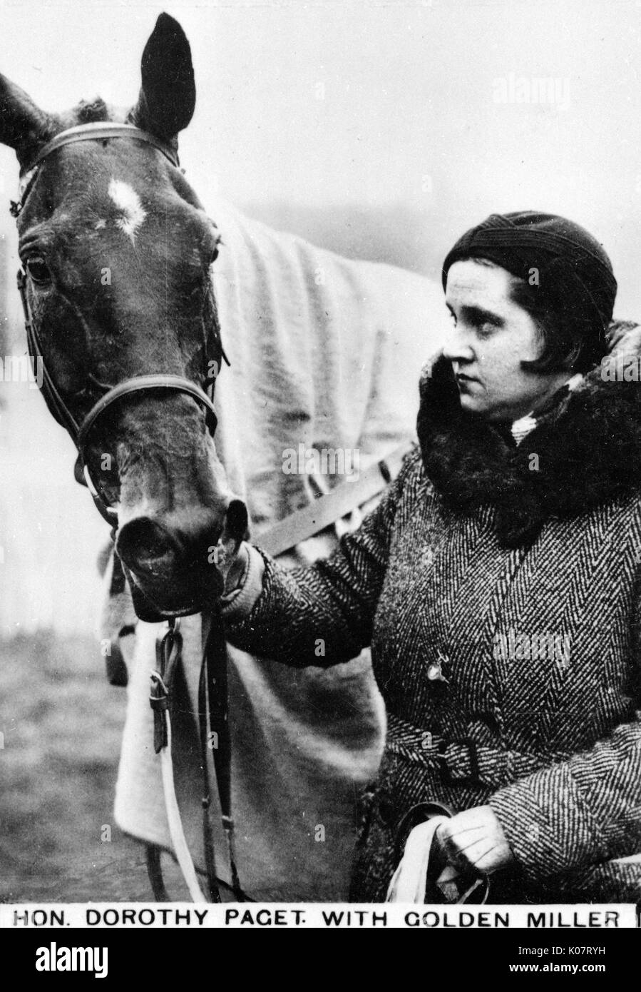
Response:
[{"label": "woman's dark close-fitting hat", "polygon": [[534,210],[492,213],[459,238],[443,263],[484,258],[518,276],[540,295],[540,310],[576,328],[598,355],[612,317],[616,280],[612,264],[585,228],[565,217]]}]

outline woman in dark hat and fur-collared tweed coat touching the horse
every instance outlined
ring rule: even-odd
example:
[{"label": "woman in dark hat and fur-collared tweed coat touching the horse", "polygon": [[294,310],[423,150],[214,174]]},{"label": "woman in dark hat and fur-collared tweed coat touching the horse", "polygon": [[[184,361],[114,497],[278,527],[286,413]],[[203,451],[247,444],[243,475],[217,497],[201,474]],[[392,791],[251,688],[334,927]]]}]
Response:
[{"label": "woman in dark hat and fur-collared tweed coat touching the horse", "polygon": [[490,874],[492,901],[636,901],[641,399],[599,365],[611,265],[525,211],[464,235],[443,285],[419,448],[332,558],[285,571],[242,546],[227,634],[293,666],[372,646],[388,729],[356,901],[385,898],[422,802],[454,810],[442,852]]}]

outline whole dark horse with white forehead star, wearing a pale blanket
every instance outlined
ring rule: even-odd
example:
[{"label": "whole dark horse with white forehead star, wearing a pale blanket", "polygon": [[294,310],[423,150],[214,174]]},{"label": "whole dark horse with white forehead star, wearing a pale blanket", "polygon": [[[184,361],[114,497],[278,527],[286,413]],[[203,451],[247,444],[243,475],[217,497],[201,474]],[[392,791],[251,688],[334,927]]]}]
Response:
[{"label": "whole dark horse with white forehead star, wearing a pale blanket", "polygon": [[[418,369],[444,313],[420,277],[339,259],[223,203],[214,224],[177,161],[194,103],[189,46],[166,15],[130,110],[96,99],[48,114],[0,76],[0,141],[21,166],[14,213],[30,350],[78,446],[76,478],[114,528],[106,613],[114,651],[130,663],[117,819],[167,850],[148,700],[162,621],[184,618],[188,705],[178,709],[197,712],[200,614],[221,587],[212,551],[245,535],[246,505],[260,542],[319,493],[353,494],[337,519],[380,491],[382,477],[359,488],[319,476],[313,459],[288,474],[283,453],[300,463],[301,446],[303,462],[309,450],[356,450],[366,475],[409,444]],[[292,563],[336,542],[333,527],[313,533],[298,535]],[[127,585],[116,581],[121,566]],[[246,887],[264,899],[343,898],[355,797],[383,730],[369,662],[296,674],[233,650],[229,662]],[[193,845],[202,754],[188,724],[174,727],[173,751]]]}]

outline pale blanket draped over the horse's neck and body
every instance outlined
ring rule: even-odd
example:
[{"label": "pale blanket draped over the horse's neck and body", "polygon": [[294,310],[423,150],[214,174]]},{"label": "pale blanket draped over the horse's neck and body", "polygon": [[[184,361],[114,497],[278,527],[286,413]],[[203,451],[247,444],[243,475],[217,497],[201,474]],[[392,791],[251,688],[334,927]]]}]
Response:
[{"label": "pale blanket draped over the horse's neck and body", "polygon": [[[216,384],[216,448],[260,544],[272,523],[343,481],[283,472],[286,449],[358,449],[362,471],[403,441],[409,447],[420,367],[439,346],[445,308],[440,287],[427,279],[347,261],[249,221],[222,201],[214,206],[223,239],[214,286],[231,361]],[[351,526],[358,521],[357,513]],[[334,528],[283,559],[311,561],[336,542]],[[107,636],[128,611],[131,604],[107,603]],[[200,618],[183,621],[182,632],[184,699],[173,757],[185,832],[201,861],[193,717]],[[157,633],[156,625],[139,622],[136,635],[123,639],[128,708],[115,814],[128,834],[170,851],[149,705]],[[263,901],[343,901],[357,799],[375,777],[384,734],[369,653],[327,671],[298,671],[228,651],[241,882]],[[218,871],[229,879],[224,850],[219,834]]]}]

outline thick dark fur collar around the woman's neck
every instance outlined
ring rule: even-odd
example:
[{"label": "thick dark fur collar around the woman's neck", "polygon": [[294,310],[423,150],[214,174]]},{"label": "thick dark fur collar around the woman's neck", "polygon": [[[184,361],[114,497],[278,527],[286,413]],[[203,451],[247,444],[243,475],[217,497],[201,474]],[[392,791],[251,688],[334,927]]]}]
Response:
[{"label": "thick dark fur collar around the woman's neck", "polygon": [[461,410],[447,359],[430,363],[420,382],[418,438],[446,506],[471,513],[493,505],[499,541],[515,548],[534,540],[549,517],[576,517],[641,490],[641,331],[618,324],[612,339],[608,359],[634,356],[636,381],[604,381],[601,367],[593,369],[576,391],[556,394],[518,447]]}]

